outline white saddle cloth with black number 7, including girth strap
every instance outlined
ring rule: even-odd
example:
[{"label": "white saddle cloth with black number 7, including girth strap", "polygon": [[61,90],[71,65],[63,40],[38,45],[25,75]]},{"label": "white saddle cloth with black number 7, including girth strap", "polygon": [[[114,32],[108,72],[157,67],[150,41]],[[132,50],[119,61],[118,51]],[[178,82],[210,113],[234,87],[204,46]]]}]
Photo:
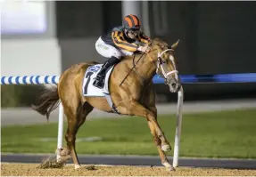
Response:
[{"label": "white saddle cloth with black number 7, including girth strap", "polygon": [[102,68],[103,64],[96,64],[94,66],[90,66],[87,68],[86,74],[84,76],[83,80],[83,95],[84,96],[94,96],[94,97],[105,97],[108,101],[111,109],[113,109],[114,112],[120,114],[117,109],[115,109],[115,106],[113,105],[111,101],[111,94],[109,92],[109,78],[111,75],[111,71],[114,68],[112,66],[106,73],[105,79],[104,79],[104,86],[103,89],[100,89],[98,87],[95,87],[93,85],[95,81],[95,77],[97,76],[98,72]]}]

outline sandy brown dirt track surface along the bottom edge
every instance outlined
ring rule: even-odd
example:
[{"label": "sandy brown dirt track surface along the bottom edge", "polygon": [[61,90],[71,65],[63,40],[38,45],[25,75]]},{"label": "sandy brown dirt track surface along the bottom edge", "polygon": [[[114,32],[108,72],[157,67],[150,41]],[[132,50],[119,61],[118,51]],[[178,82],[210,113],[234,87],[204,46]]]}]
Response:
[{"label": "sandy brown dirt track surface along the bottom edge", "polygon": [[61,169],[38,169],[38,164],[1,164],[2,176],[255,176],[256,170],[229,170],[211,168],[178,167],[176,172],[167,172],[164,167],[141,166],[103,166],[95,165],[95,169],[88,169],[82,165],[74,170],[73,165],[66,165]]}]

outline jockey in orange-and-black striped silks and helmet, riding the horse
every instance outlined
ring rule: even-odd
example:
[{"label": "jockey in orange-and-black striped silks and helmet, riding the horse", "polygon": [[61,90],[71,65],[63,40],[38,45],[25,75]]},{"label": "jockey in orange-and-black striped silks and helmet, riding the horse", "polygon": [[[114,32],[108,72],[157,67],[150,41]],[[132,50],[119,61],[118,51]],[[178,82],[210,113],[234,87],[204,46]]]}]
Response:
[{"label": "jockey in orange-and-black striped silks and helmet, riding the horse", "polygon": [[[104,76],[109,68],[117,64],[123,56],[131,56],[136,51],[149,52],[151,39],[141,31],[140,20],[136,15],[127,15],[123,26],[113,28],[107,36],[100,36],[95,43],[96,51],[108,58],[95,77],[94,85],[103,88]],[[141,43],[141,44],[138,44]]]}]

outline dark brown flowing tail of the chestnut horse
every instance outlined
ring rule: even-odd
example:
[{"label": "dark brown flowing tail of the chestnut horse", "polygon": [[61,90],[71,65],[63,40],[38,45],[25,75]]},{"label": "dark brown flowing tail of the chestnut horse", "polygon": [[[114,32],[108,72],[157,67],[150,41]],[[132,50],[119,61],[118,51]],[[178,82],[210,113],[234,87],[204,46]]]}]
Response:
[{"label": "dark brown flowing tail of the chestnut horse", "polygon": [[49,120],[50,113],[60,104],[58,86],[51,85],[51,87],[45,88],[45,91],[39,95],[38,101],[38,105],[31,105],[32,109],[36,110],[39,114],[46,116],[47,120]]}]

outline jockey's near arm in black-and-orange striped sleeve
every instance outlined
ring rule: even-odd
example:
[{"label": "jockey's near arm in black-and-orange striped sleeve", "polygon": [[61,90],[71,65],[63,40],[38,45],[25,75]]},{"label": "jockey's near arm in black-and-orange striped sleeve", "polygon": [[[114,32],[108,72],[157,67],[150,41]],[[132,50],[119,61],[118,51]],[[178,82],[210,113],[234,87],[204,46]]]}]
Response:
[{"label": "jockey's near arm in black-and-orange striped sleeve", "polygon": [[114,44],[116,44],[121,49],[124,49],[129,52],[136,52],[139,47],[137,44],[130,44],[123,38],[123,33],[120,31],[113,31],[111,33]]}]

